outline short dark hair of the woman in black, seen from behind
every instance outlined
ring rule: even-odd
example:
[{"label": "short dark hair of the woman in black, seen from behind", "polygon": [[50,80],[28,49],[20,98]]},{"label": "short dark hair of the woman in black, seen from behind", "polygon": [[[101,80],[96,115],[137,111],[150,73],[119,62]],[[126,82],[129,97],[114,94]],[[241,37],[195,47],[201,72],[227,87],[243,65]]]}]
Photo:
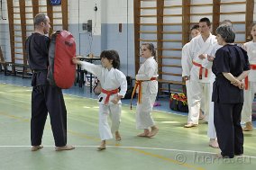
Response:
[{"label": "short dark hair of the woman in black, seen from behind", "polygon": [[228,25],[220,25],[216,29],[216,34],[220,34],[226,43],[233,43],[235,39],[233,27]]}]

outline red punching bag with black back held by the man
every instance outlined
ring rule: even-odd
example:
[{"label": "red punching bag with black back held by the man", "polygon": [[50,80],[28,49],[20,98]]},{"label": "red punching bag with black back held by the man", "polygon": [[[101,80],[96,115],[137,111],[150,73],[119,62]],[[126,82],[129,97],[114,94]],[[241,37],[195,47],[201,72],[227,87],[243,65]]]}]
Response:
[{"label": "red punching bag with black back held by the man", "polygon": [[59,88],[70,88],[75,82],[76,42],[69,31],[56,31],[52,34],[49,48],[48,81]]}]

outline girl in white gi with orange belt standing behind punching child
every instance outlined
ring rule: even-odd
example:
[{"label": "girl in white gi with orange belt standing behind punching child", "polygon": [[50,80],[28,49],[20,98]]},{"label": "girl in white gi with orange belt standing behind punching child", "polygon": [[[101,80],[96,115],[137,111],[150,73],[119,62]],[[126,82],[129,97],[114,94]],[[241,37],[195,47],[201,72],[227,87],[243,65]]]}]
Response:
[{"label": "girl in white gi with orange belt standing behind punching child", "polygon": [[[136,75],[136,84],[139,86],[138,103],[136,107],[136,128],[144,130],[138,137],[153,137],[159,128],[153,121],[151,112],[158,93],[158,64],[155,60],[156,51],[151,43],[143,43],[141,56],[146,60]],[[136,87],[135,87],[136,88]]]}]

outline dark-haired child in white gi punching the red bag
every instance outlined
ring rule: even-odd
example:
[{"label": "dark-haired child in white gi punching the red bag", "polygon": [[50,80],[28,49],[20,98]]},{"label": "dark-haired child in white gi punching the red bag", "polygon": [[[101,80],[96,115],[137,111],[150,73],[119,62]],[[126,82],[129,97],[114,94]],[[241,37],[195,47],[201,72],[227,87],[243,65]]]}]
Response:
[{"label": "dark-haired child in white gi punching the red bag", "polygon": [[[101,65],[91,64],[86,61],[80,61],[73,58],[73,63],[82,66],[88,72],[95,75],[102,86],[99,94],[99,134],[102,140],[98,150],[105,149],[105,140],[112,139],[112,133],[115,133],[115,139],[121,140],[119,125],[121,121],[121,98],[124,97],[127,90],[126,76],[118,70],[120,66],[119,55],[115,50],[104,50],[101,55]],[[119,87],[121,90],[119,92]],[[112,121],[111,130],[107,122],[107,116]]]}]

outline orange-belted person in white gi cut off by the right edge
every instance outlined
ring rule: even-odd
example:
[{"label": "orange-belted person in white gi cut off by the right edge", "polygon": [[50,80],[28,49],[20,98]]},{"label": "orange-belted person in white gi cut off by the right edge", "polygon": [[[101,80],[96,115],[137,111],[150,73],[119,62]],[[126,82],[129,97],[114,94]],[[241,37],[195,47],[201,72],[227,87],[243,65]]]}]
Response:
[{"label": "orange-belted person in white gi cut off by the right edge", "polygon": [[242,48],[247,51],[251,71],[245,79],[244,89],[244,103],[242,106],[242,122],[245,122],[243,131],[253,130],[251,123],[251,103],[256,93],[256,22],[252,24],[251,28],[252,40],[243,44]]}]

